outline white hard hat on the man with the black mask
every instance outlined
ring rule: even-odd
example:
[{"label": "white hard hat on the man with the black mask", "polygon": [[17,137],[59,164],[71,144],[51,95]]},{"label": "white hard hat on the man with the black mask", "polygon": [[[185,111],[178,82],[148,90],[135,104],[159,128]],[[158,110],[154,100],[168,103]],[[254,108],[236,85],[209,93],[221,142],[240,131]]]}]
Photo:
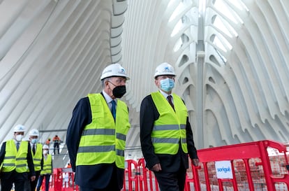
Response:
[{"label": "white hard hat on the man with the black mask", "polygon": [[125,77],[126,80],[129,80],[128,76],[126,75],[126,70],[118,63],[106,66],[101,74],[101,80],[112,76],[121,76]]}]

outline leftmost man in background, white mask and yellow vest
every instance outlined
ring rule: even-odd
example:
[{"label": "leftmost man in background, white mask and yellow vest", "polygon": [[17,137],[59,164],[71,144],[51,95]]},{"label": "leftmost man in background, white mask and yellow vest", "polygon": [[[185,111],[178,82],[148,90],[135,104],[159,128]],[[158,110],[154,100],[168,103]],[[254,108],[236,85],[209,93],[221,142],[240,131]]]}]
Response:
[{"label": "leftmost man in background, white mask and yellow vest", "polygon": [[15,191],[23,191],[25,181],[36,178],[30,144],[22,141],[24,125],[16,125],[13,132],[13,139],[4,142],[0,150],[1,191],[10,191],[13,183]]}]

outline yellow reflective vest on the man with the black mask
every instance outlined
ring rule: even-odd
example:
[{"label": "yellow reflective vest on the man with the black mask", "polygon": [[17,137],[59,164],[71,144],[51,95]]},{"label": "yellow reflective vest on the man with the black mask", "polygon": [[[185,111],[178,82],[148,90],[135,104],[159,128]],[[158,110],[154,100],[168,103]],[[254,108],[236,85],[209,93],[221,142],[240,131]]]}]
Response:
[{"label": "yellow reflective vest on the man with the black mask", "polygon": [[124,169],[126,134],[130,128],[128,108],[117,101],[117,118],[114,123],[108,104],[101,94],[89,94],[92,121],[84,127],[77,150],[76,166],[110,164]]}]

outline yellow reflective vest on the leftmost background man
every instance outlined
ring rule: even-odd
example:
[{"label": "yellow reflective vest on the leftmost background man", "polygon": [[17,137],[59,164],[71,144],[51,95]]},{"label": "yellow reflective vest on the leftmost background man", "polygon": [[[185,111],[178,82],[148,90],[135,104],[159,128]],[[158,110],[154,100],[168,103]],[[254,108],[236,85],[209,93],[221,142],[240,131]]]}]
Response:
[{"label": "yellow reflective vest on the leftmost background man", "polygon": [[18,173],[28,171],[27,152],[28,141],[21,141],[17,151],[14,140],[6,141],[5,157],[1,171],[10,172],[15,169]]}]

